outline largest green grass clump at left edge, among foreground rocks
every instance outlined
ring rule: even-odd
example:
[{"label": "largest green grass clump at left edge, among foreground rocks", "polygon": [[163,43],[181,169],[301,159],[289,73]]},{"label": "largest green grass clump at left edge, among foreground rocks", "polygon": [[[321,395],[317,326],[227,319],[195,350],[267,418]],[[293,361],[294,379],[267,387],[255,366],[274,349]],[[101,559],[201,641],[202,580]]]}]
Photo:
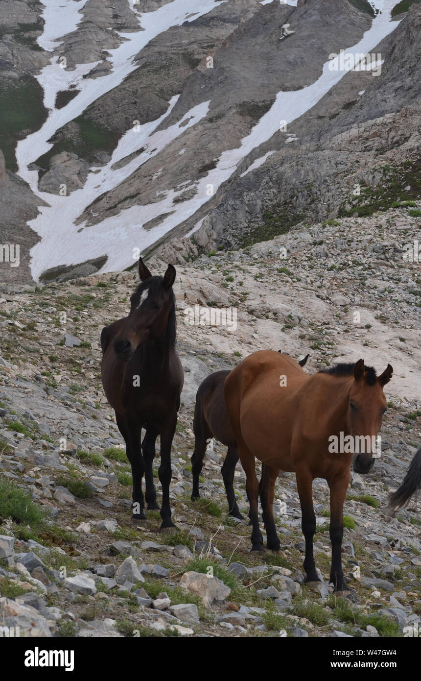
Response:
[{"label": "largest green grass clump at left edge, among foreground rocks", "polygon": [[7,518],[36,531],[43,526],[46,511],[33,503],[29,492],[10,480],[0,479],[0,522]]}]

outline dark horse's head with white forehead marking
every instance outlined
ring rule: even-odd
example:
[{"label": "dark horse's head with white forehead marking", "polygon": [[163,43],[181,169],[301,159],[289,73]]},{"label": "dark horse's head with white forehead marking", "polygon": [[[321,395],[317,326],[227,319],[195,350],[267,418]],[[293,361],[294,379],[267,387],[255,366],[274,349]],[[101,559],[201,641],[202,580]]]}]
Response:
[{"label": "dark horse's head with white forehead marking", "polygon": [[114,351],[122,362],[131,360],[138,345],[162,336],[169,315],[175,315],[175,268],[169,265],[164,276],[152,276],[139,258],[139,276],[141,283],[130,298],[129,316],[114,338]]}]

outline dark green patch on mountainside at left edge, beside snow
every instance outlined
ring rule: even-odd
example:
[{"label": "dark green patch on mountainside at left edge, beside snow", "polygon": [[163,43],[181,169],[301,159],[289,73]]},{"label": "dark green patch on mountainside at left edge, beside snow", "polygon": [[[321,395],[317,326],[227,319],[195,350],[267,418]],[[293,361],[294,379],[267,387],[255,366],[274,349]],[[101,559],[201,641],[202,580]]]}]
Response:
[{"label": "dark green patch on mountainside at left edge, beside snow", "polygon": [[39,130],[46,121],[48,110],[43,104],[44,91],[35,78],[22,76],[16,81],[8,80],[7,86],[4,82],[0,86],[0,149],[6,168],[16,172],[16,143]]}]

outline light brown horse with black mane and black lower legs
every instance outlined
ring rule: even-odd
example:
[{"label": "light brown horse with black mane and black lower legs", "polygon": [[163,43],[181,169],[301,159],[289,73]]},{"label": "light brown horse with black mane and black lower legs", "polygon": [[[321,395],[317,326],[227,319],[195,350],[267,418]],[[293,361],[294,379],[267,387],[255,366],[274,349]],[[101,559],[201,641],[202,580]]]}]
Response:
[{"label": "light brown horse with black mane and black lower legs", "polygon": [[[267,547],[280,548],[273,519],[273,490],[279,470],[293,471],[297,478],[305,537],[304,569],[307,582],[320,581],[313,557],[316,516],[311,487],[314,478],[326,479],[331,491],[332,543],[331,582],[344,590],[341,567],[343,536],[342,509],[350,480],[352,452],[341,447],[342,438],[351,436],[354,445],[369,436],[367,451],[354,456],[354,470],[367,473],[373,465],[371,438],[377,437],[386,411],[383,387],[392,377],[388,364],[377,377],[364,360],[337,364],[311,376],[295,360],[271,350],[255,352],[231,371],[224,383],[226,409],[246,471],[250,501],[252,550],[263,549],[258,526],[259,485],[255,457],[265,464],[268,494],[263,509]],[[337,453],[335,439],[342,452]],[[331,451],[329,451],[331,450]],[[354,446],[355,452],[360,452]],[[263,500],[260,496],[260,500]]]}]

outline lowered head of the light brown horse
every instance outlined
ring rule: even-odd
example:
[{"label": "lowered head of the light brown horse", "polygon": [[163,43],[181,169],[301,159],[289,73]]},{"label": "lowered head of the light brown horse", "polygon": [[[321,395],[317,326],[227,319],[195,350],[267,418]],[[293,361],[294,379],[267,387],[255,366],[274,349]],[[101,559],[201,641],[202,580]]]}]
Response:
[{"label": "lowered head of the light brown horse", "polygon": [[353,463],[356,473],[368,473],[373,467],[375,453],[373,443],[382,427],[387,407],[383,386],[390,381],[392,373],[393,368],[390,364],[380,376],[376,375],[372,367],[365,366],[364,360],[358,360],[354,366],[347,424],[354,438]]}]

